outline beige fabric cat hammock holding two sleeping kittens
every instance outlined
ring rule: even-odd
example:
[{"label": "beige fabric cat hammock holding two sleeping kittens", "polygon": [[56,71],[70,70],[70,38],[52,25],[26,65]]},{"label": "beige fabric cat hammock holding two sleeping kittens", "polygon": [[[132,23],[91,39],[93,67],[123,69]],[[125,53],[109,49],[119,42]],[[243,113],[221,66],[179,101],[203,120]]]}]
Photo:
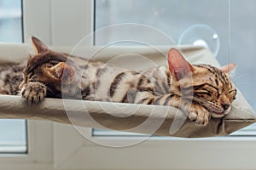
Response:
[{"label": "beige fabric cat hammock holding two sleeping kittens", "polygon": [[[167,54],[170,47],[159,47]],[[77,55],[90,54],[96,48],[77,50]],[[180,49],[191,63],[205,63],[215,66],[218,61],[207,48],[181,46]],[[70,53],[69,48],[55,48],[56,51]],[[24,44],[1,44],[0,63],[20,63],[28,58],[30,49]],[[166,65],[166,59],[150,48],[106,48],[104,53],[95,54],[95,58],[108,61],[119,54],[137,54],[146,56],[156,65]],[[125,62],[111,59],[112,64],[142,70],[147,62],[138,62],[131,57]],[[124,58],[125,59],[125,58]],[[143,58],[144,59],[144,58]],[[71,99],[45,99],[39,105],[27,105],[20,96],[0,95],[0,118],[48,120],[73,124],[81,127],[95,127],[146,133],[162,136],[185,138],[228,135],[242,127],[256,122],[253,109],[238,92],[232,104],[232,111],[224,118],[211,119],[206,127],[196,126],[195,122],[185,120],[176,108],[158,105],[134,105],[98,101]]]}]

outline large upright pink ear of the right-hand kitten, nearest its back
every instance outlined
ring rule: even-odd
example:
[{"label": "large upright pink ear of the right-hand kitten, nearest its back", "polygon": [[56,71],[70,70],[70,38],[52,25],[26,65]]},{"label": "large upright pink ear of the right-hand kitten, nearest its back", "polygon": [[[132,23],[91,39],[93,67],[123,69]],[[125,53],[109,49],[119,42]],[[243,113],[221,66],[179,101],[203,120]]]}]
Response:
[{"label": "large upright pink ear of the right-hand kitten, nearest its back", "polygon": [[172,77],[175,77],[176,80],[180,80],[195,71],[193,66],[189,64],[176,48],[171,48],[169,50],[168,64]]}]

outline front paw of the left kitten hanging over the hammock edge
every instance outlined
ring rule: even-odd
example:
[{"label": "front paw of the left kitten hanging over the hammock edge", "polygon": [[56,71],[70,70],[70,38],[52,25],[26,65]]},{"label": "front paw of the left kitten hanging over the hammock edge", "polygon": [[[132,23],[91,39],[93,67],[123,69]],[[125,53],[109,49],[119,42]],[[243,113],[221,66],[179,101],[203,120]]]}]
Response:
[{"label": "front paw of the left kitten hanging over the hammock edge", "polygon": [[46,86],[41,82],[27,82],[21,89],[21,95],[29,105],[38,104],[46,96]]}]

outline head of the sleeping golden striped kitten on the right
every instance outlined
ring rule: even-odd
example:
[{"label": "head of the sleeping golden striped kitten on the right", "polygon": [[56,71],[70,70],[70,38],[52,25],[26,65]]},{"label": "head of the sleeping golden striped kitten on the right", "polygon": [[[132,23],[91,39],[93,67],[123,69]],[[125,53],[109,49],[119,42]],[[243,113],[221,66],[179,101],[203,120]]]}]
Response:
[{"label": "head of the sleeping golden striped kitten on the right", "polygon": [[212,65],[190,65],[175,48],[168,53],[168,64],[173,93],[205,106],[212,117],[222,117],[230,112],[231,103],[236,98],[236,87],[229,73],[236,64],[219,69]]}]

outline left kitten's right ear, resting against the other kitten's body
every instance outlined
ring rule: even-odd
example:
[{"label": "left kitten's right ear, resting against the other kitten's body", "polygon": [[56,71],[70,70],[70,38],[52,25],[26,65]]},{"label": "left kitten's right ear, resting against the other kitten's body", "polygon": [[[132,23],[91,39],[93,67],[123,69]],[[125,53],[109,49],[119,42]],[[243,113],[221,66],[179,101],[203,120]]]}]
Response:
[{"label": "left kitten's right ear, resting against the other kitten's body", "polygon": [[59,64],[52,66],[49,71],[58,81],[65,84],[73,82],[75,77],[73,67],[65,62],[60,62]]}]

